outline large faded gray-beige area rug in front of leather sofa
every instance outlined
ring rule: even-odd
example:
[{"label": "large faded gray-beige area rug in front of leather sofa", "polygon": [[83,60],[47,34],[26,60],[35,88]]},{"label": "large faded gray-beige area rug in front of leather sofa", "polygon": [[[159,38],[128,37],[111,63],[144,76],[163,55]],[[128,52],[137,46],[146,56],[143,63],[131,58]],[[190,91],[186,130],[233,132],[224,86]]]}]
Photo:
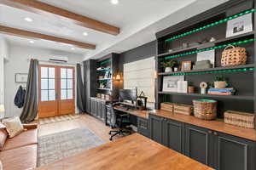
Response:
[{"label": "large faded gray-beige area rug in front of leather sofa", "polygon": [[104,144],[102,139],[85,127],[41,136],[38,138],[38,167],[74,156],[100,144]]}]

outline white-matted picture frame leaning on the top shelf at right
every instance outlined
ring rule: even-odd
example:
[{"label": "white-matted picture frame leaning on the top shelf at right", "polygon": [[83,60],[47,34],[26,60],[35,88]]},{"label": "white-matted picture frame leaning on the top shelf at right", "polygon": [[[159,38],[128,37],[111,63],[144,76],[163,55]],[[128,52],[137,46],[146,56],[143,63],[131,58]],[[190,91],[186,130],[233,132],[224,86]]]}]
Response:
[{"label": "white-matted picture frame leaning on the top shelf at right", "polygon": [[227,23],[226,37],[234,37],[253,31],[253,14],[245,14]]}]

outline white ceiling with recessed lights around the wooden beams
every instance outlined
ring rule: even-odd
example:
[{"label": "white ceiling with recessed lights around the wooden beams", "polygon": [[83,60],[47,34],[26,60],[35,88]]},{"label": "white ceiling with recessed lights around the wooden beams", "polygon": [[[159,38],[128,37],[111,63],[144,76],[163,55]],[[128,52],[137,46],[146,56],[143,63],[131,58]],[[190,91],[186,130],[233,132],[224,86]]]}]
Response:
[{"label": "white ceiling with recessed lights around the wooden beams", "polygon": [[[24,37],[4,36],[10,43],[27,44],[40,48],[54,48],[72,53],[84,54],[84,59],[100,58],[111,52],[121,53],[155,39],[154,34],[168,26],[188,19],[208,8],[227,0],[119,0],[113,5],[110,0],[40,0],[77,14],[120,27],[118,36],[93,31],[82,26],[71,25],[65,20],[29,13],[17,8],[0,5],[0,23],[28,31],[37,31],[56,37],[96,44],[96,50],[75,48],[59,42],[34,40]],[[198,6],[199,5],[199,6]],[[196,8],[196,10],[193,10]],[[181,12],[180,12],[181,11]],[[25,17],[34,21],[26,22]],[[84,37],[83,32],[88,32]]]}]

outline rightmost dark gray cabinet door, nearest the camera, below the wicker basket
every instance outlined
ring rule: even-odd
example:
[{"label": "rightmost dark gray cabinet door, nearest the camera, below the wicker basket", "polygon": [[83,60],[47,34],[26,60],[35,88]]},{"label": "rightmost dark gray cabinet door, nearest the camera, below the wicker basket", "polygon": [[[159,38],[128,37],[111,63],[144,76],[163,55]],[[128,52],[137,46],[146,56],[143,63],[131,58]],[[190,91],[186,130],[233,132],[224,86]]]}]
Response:
[{"label": "rightmost dark gray cabinet door, nearest the camera, below the wicker basket", "polygon": [[255,142],[230,136],[215,134],[216,166],[218,170],[255,170]]}]

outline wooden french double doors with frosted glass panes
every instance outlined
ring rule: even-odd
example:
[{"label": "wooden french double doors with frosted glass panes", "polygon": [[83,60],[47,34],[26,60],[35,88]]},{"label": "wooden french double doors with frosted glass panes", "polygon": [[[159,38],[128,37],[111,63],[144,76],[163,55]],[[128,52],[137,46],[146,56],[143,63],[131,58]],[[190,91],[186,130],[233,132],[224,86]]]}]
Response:
[{"label": "wooden french double doors with frosted glass panes", "polygon": [[74,67],[39,65],[38,117],[60,116],[75,112]]}]

